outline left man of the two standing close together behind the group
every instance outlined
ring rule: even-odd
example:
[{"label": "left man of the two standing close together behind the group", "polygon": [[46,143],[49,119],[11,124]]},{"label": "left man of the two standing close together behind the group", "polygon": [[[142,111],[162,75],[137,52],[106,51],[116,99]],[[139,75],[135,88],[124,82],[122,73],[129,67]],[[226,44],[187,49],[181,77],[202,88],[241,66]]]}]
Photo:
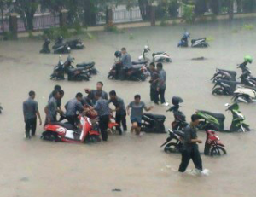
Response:
[{"label": "left man of the two standing close together behind the group", "polygon": [[154,101],[154,104],[158,105],[159,97],[158,97],[158,83],[159,83],[159,73],[155,69],[154,62],[151,62],[150,65],[150,71],[151,71],[151,79],[149,81],[150,83],[150,100]]}]

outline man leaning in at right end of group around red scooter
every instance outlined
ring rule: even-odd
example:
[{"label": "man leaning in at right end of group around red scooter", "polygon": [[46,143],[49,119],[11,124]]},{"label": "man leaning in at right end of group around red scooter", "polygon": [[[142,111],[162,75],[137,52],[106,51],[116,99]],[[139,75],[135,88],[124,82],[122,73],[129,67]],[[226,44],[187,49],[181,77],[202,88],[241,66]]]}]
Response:
[{"label": "man leaning in at right end of group around red scooter", "polygon": [[125,102],[123,99],[116,96],[115,90],[112,90],[109,92],[109,97],[110,97],[109,103],[112,102],[115,107],[115,110],[111,110],[111,111],[115,112],[115,122],[118,124],[116,129],[119,130],[119,135],[122,135],[121,123],[124,131],[127,130]]}]

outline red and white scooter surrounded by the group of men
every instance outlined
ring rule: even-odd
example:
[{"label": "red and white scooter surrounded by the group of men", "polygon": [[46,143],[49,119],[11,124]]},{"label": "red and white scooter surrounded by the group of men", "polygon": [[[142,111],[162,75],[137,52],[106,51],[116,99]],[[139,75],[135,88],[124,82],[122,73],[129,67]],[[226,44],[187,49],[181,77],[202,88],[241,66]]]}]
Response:
[{"label": "red and white scooter surrounded by the group of men", "polygon": [[92,125],[88,117],[79,116],[81,128],[74,130],[73,125],[57,122],[44,126],[41,139],[52,142],[101,142],[97,125]]}]

